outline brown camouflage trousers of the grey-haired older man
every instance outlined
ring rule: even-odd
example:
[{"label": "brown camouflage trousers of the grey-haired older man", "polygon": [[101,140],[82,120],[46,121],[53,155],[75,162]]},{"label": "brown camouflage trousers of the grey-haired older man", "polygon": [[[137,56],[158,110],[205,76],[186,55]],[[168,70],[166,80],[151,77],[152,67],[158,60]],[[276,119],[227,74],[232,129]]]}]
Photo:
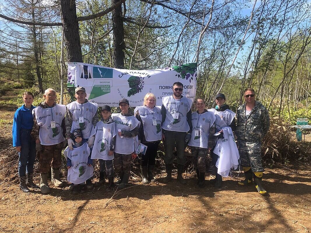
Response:
[{"label": "brown camouflage trousers of the grey-haired older man", "polygon": [[62,167],[62,149],[63,143],[50,146],[42,145],[42,150],[39,152],[39,173],[48,174],[51,167],[55,169]]}]

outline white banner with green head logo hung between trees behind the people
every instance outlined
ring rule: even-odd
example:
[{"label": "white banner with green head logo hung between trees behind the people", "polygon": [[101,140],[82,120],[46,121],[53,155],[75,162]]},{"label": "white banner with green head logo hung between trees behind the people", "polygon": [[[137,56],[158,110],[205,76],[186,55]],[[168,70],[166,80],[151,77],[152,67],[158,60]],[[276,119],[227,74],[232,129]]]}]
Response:
[{"label": "white banner with green head logo hung between trees behind the people", "polygon": [[84,87],[87,99],[98,106],[118,107],[128,99],[131,107],[142,106],[151,92],[162,105],[162,97],[172,95],[174,82],[183,84],[182,95],[194,101],[197,90],[197,64],[190,63],[157,70],[125,70],[85,63],[68,63],[67,87]]}]

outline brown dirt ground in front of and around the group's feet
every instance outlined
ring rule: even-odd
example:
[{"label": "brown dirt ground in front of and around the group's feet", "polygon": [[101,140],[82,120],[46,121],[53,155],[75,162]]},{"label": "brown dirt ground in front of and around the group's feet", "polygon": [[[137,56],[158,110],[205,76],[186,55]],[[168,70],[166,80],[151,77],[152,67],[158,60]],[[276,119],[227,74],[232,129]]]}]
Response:
[{"label": "brown dirt ground in front of and around the group's feet", "polygon": [[[8,93],[13,96],[14,92]],[[267,197],[253,185],[238,187],[243,174],[224,178],[222,189],[207,181],[200,189],[194,174],[186,185],[157,180],[106,193],[105,186],[72,195],[67,185],[42,195],[18,188],[17,167],[4,171],[3,156],[12,149],[12,119],[16,106],[1,106],[0,98],[0,232],[298,232],[311,230],[311,167],[267,168]],[[8,148],[10,147],[10,148]],[[242,177],[241,177],[242,176]],[[174,176],[176,178],[176,176]],[[134,177],[135,178],[135,177]],[[209,180],[211,176],[206,176]],[[174,179],[176,180],[176,179]],[[39,176],[36,174],[36,183]],[[97,179],[95,179],[97,181]],[[66,182],[66,180],[64,180]]]}]

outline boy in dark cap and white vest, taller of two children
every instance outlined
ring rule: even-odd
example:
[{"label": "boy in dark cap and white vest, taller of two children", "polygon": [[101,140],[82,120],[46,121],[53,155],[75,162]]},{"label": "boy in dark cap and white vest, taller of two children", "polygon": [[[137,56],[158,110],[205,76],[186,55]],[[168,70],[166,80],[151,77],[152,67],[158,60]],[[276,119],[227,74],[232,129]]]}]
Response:
[{"label": "boy in dark cap and white vest, taller of two children", "polygon": [[115,123],[110,117],[111,108],[108,105],[101,107],[101,121],[95,127],[95,142],[93,146],[92,159],[99,159],[100,178],[104,179],[104,170],[108,178],[109,186],[107,192],[114,188],[114,145],[116,141]]}]

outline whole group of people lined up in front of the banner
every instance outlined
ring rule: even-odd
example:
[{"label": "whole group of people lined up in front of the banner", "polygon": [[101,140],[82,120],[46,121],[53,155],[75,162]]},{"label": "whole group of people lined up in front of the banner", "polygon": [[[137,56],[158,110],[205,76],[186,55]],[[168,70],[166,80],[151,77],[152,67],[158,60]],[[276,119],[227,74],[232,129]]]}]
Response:
[{"label": "whole group of people lined up in front of the banner", "polygon": [[[18,172],[20,188],[40,188],[43,194],[50,192],[48,173],[51,167],[52,182],[63,187],[59,173],[62,166],[62,150],[67,159],[67,180],[72,183],[74,194],[81,188],[92,189],[93,159],[99,159],[100,182],[108,178],[110,191],[115,185],[124,188],[128,184],[131,160],[137,156],[137,148],[146,151],[139,154],[142,183],[154,180],[153,171],[160,141],[165,145],[166,182],[172,180],[173,151],[177,151],[177,181],[186,184],[183,169],[186,163],[185,148],[191,148],[193,165],[197,172],[197,185],[204,187],[206,157],[210,151],[216,169],[216,178],[210,180],[221,187],[222,176],[228,168],[227,154],[239,154],[245,180],[239,185],[253,182],[258,192],[266,194],[262,186],[261,139],[269,129],[267,109],[255,101],[255,91],[244,90],[245,103],[238,107],[237,114],[225,104],[225,95],[217,94],[216,107],[206,109],[204,99],[195,100],[196,111],[192,112],[192,100],[182,96],[183,84],[173,84],[173,95],[162,98],[162,106],[156,106],[156,96],[147,93],[143,106],[129,112],[129,102],[119,101],[120,113],[112,113],[108,105],[100,109],[98,119],[96,103],[88,102],[83,87],[75,90],[76,101],[67,105],[56,103],[56,92],[47,89],[45,100],[38,107],[32,105],[34,96],[23,94],[25,104],[16,110],[13,121],[13,146],[19,152]],[[235,118],[237,121],[235,123]],[[234,142],[237,136],[239,151],[228,152],[224,145]],[[67,140],[66,140],[67,139]],[[229,139],[229,140],[228,140]],[[222,143],[223,142],[223,143]],[[236,147],[235,142],[233,143]],[[39,155],[38,170],[40,186],[33,182],[33,166],[36,150]],[[230,163],[229,166],[232,166]],[[224,168],[225,167],[225,168]],[[229,167],[230,170],[230,167]],[[114,182],[114,172],[119,180]],[[83,185],[81,185],[83,184]]]}]

